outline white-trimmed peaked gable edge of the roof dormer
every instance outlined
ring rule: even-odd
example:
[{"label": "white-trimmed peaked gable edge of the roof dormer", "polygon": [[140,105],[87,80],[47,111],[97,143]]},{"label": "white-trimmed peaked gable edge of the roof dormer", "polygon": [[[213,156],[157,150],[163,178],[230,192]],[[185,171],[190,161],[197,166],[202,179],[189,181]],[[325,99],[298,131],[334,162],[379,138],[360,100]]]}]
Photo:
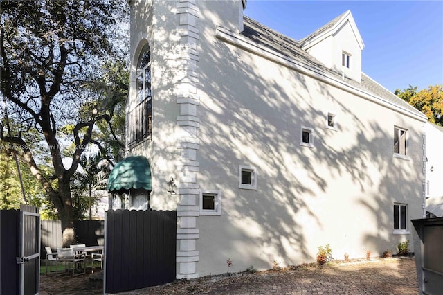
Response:
[{"label": "white-trimmed peaked gable edge of the roof dormer", "polygon": [[349,23],[352,33],[356,39],[357,44],[359,44],[360,50],[363,50],[365,44],[363,43],[363,39],[361,38],[359,29],[357,28],[354,17],[352,17],[352,13],[350,10],[347,10],[343,14],[339,15],[329,23],[325,24],[314,33],[311,33],[307,37],[300,40],[300,47],[304,50],[311,48],[312,46],[318,44],[329,36],[336,35],[345,24]]}]

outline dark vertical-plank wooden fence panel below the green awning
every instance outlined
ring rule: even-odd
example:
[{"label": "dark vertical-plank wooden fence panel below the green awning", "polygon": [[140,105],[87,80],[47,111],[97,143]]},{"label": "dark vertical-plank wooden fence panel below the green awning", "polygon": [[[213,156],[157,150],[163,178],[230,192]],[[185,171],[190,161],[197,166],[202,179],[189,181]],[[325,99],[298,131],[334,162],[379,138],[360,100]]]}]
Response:
[{"label": "dark vertical-plank wooden fence panel below the green awning", "polygon": [[107,211],[105,292],[125,292],[175,280],[176,238],[176,211]]}]

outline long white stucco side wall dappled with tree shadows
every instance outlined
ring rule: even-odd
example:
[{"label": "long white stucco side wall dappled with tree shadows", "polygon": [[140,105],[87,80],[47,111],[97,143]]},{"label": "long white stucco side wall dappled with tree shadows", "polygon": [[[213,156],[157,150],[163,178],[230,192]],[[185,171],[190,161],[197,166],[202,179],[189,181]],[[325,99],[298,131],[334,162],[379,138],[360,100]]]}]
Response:
[{"label": "long white stucco side wall dappled with tree shadows", "polygon": [[[199,180],[222,195],[221,216],[197,220],[199,274],[226,272],[228,258],[231,271],[313,261],[327,243],[338,259],[377,256],[410,239],[393,235],[392,206],[422,217],[423,122],[226,44],[222,12],[199,7]],[[394,125],[408,129],[408,160],[393,157]],[[300,146],[302,126],[314,148]],[[257,167],[257,190],[238,188],[239,165]]]}]

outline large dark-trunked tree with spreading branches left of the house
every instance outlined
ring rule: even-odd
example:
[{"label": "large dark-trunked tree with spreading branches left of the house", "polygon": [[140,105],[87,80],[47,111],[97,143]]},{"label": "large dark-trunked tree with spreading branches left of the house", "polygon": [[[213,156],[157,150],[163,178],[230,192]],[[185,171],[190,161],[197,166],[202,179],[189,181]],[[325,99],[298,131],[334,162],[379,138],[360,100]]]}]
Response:
[{"label": "large dark-trunked tree with spreading branches left of the house", "polygon": [[[116,60],[111,39],[121,31],[116,20],[127,18],[124,5],[106,0],[1,1],[0,90],[7,102],[1,141],[26,161],[48,194],[62,221],[64,246],[75,240],[71,178],[82,153],[91,144],[103,149],[94,138],[99,123],[118,141],[112,128],[113,91],[124,89],[118,84],[100,87],[103,61]],[[17,129],[8,128],[8,117]],[[35,158],[35,134],[50,155],[54,177]],[[74,146],[73,161],[65,168],[68,140]]]}]

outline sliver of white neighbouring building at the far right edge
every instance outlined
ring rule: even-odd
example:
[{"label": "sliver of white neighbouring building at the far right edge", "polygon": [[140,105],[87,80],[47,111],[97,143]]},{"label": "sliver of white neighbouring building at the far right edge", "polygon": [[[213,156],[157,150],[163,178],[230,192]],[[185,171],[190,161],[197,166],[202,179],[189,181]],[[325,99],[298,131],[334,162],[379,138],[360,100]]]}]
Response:
[{"label": "sliver of white neighbouring building at the far right edge", "polygon": [[426,217],[443,217],[443,127],[426,123]]}]

